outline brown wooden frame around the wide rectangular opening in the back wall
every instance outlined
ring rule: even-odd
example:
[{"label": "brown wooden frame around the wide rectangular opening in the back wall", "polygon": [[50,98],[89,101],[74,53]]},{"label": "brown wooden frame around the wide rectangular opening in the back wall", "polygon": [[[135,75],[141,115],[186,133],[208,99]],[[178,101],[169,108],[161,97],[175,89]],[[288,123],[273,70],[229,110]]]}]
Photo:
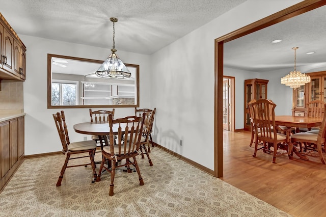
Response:
[{"label": "brown wooden frame around the wide rectangular opening in the back wall", "polygon": [[92,59],[85,59],[85,58],[77,58],[77,57],[69,57],[69,56],[62,56],[62,55],[53,55],[48,53],[47,54],[47,108],[104,108],[104,107],[139,107],[139,65],[134,64],[125,64],[127,67],[134,67],[135,68],[135,85],[136,85],[136,93],[135,97],[137,97],[137,102],[135,104],[130,105],[51,105],[51,87],[52,87],[52,73],[51,73],[51,59],[52,58],[62,58],[62,59],[71,59],[71,60],[77,60],[82,62],[89,62],[89,63],[98,63],[102,64],[103,60],[92,60]]}]

